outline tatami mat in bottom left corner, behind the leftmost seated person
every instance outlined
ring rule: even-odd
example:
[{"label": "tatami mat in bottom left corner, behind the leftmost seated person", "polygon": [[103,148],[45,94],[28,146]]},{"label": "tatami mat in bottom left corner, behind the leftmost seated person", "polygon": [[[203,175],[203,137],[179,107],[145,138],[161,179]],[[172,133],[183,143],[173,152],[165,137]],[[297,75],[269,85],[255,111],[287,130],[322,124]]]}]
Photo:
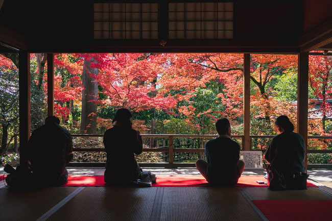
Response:
[{"label": "tatami mat in bottom left corner, behind the leftmost seated person", "polygon": [[51,187],[35,191],[0,189],[0,220],[36,220],[76,187]]}]

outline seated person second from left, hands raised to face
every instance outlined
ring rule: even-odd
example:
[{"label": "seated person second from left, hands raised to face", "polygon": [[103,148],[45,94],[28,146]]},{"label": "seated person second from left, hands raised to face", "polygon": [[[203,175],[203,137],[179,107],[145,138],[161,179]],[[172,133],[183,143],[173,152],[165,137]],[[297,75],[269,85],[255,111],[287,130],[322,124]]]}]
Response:
[{"label": "seated person second from left, hands raised to face", "polygon": [[107,153],[106,184],[127,186],[137,180],[155,182],[155,175],[143,171],[135,160],[134,154],[143,151],[143,142],[140,132],[132,129],[132,114],[128,109],[116,111],[113,127],[105,131],[103,141]]}]

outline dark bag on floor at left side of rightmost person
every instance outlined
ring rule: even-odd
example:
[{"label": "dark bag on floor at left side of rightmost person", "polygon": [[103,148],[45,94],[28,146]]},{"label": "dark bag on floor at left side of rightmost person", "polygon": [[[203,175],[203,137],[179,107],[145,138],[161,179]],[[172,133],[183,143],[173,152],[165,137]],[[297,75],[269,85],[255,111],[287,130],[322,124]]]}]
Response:
[{"label": "dark bag on floor at left side of rightmost person", "polygon": [[266,171],[268,173],[268,185],[271,190],[286,190],[286,181],[282,174],[271,165],[265,165]]}]

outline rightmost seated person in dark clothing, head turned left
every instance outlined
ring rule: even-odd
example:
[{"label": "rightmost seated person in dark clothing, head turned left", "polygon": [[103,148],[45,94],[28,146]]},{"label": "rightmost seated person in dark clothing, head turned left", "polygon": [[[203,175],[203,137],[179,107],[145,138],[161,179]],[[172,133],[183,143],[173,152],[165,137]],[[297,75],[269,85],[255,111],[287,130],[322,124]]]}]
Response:
[{"label": "rightmost seated person in dark clothing, head turned left", "polygon": [[279,116],[275,121],[279,135],[275,136],[265,153],[265,159],[281,173],[287,186],[292,186],[294,175],[305,173],[305,144],[303,137],[293,132],[294,125],[285,116]]}]

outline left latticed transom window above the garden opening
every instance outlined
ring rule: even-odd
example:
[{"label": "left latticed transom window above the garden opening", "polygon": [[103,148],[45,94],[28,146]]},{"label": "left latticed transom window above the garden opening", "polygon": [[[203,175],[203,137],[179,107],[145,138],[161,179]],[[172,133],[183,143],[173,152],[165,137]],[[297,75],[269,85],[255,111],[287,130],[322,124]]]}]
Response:
[{"label": "left latticed transom window above the garden opening", "polygon": [[95,3],[94,39],[157,39],[158,4]]}]

